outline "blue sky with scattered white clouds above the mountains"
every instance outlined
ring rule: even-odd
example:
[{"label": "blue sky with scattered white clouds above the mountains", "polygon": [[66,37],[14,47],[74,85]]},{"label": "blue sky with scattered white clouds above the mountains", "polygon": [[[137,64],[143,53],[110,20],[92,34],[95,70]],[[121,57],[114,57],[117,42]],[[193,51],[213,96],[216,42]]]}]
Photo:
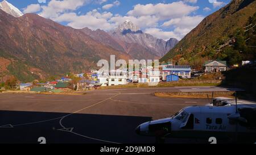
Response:
[{"label": "blue sky with scattered white clouds above the mountains", "polygon": [[230,0],[7,0],[23,13],[71,26],[112,30],[130,20],[142,31],[167,40],[182,39]]}]

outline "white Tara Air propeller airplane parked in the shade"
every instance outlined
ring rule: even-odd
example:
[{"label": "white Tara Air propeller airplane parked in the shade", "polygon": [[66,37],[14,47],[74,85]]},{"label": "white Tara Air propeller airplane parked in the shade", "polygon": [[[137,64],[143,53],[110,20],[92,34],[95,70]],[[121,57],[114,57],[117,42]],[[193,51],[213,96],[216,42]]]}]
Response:
[{"label": "white Tara Air propeller airplane parked in the shade", "polygon": [[255,143],[256,103],[237,97],[212,98],[206,106],[185,107],[170,118],[143,123],[135,132],[156,137],[156,143],[164,143],[168,137]]}]

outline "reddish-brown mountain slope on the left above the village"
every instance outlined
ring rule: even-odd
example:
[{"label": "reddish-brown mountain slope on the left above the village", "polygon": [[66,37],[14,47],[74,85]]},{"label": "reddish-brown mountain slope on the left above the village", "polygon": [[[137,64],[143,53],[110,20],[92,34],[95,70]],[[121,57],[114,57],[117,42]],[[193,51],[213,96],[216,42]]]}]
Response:
[{"label": "reddish-brown mountain slope on the left above the village", "polygon": [[[36,14],[15,18],[0,10],[0,57],[9,60],[7,75],[22,81],[40,75],[85,72],[110,55],[131,57],[105,46],[80,30],[65,27]],[[33,72],[32,70],[37,70]]]}]

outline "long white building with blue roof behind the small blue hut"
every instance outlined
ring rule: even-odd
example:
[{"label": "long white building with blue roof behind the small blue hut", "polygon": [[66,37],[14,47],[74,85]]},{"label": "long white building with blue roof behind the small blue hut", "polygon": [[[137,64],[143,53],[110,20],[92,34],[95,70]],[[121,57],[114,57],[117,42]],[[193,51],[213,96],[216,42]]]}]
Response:
[{"label": "long white building with blue roof behind the small blue hut", "polygon": [[162,80],[166,81],[168,75],[174,74],[181,78],[191,78],[191,66],[188,65],[165,65],[162,69]]}]

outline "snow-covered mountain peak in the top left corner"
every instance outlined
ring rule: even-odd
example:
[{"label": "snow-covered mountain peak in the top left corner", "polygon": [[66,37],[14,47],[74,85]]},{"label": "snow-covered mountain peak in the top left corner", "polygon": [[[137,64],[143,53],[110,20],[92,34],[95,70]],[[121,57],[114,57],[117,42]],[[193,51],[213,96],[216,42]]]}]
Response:
[{"label": "snow-covered mountain peak in the top left corner", "polygon": [[15,6],[7,1],[0,2],[0,9],[14,17],[19,17],[23,15],[23,13],[19,9],[17,9]]}]

